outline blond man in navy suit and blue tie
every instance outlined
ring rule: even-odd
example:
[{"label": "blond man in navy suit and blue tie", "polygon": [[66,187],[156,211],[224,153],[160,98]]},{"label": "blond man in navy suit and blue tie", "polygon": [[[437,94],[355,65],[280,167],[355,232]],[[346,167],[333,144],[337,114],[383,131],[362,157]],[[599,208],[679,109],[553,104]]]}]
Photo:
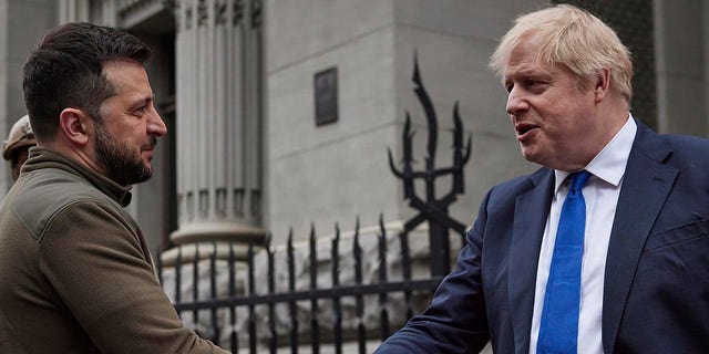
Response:
[{"label": "blond man in navy suit and blue tie", "polygon": [[537,171],[493,187],[431,305],[378,353],[702,353],[709,140],[629,113],[628,50],[594,15],[520,17],[491,67]]}]

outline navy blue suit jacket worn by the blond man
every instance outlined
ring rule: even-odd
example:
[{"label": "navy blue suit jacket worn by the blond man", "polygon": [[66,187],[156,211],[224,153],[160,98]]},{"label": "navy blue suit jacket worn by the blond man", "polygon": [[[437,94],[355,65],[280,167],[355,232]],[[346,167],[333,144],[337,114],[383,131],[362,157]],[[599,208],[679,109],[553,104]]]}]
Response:
[{"label": "navy blue suit jacket worn by the blond man", "polygon": [[[458,266],[377,353],[527,353],[554,171],[492,188]],[[709,140],[638,123],[608,254],[605,353],[709,351]],[[583,348],[579,348],[583,350]]]}]

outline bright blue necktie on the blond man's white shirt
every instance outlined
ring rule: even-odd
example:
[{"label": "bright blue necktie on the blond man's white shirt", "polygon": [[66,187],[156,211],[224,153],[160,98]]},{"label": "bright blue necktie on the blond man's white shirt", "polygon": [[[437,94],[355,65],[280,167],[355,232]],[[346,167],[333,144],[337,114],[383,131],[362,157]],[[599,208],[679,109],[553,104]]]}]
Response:
[{"label": "bright blue necktie on the blond man's white shirt", "polygon": [[554,256],[546,282],[544,308],[536,352],[574,353],[578,337],[580,260],[584,253],[586,201],[582,188],[590,177],[587,170],[569,175],[568,195],[558,219]]}]

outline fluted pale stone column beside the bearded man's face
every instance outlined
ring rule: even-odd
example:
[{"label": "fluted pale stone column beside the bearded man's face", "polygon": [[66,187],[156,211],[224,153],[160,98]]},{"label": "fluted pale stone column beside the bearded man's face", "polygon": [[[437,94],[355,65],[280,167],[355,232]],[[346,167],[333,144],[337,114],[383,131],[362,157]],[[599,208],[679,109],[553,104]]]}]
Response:
[{"label": "fluted pale stone column beside the bearded man's face", "polygon": [[175,243],[261,241],[260,1],[176,1]]}]

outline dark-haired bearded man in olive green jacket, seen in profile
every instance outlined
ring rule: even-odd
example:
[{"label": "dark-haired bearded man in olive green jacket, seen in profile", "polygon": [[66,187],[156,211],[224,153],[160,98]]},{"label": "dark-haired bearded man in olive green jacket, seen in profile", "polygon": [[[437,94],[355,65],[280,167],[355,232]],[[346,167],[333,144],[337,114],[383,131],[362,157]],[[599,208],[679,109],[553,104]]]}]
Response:
[{"label": "dark-haired bearded man in olive green jacket, seen in profile", "polygon": [[24,65],[38,146],[0,206],[0,352],[225,353],[185,329],[123,209],[167,129],[116,29],[69,23]]}]

